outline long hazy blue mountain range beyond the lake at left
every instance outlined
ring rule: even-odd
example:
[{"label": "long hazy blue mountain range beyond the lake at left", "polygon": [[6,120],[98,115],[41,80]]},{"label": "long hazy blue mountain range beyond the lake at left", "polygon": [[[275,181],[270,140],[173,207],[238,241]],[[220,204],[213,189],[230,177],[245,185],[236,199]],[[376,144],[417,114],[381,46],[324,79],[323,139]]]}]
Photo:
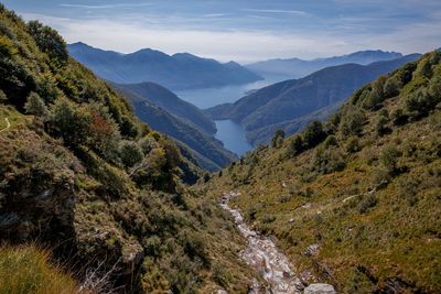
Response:
[{"label": "long hazy blue mountain range beyond the lake at left", "polygon": [[119,84],[153,81],[169,89],[246,84],[260,76],[237,63],[220,64],[189,53],[172,56],[146,48],[131,54],[103,51],[84,43],[68,45],[73,57],[98,76]]}]

